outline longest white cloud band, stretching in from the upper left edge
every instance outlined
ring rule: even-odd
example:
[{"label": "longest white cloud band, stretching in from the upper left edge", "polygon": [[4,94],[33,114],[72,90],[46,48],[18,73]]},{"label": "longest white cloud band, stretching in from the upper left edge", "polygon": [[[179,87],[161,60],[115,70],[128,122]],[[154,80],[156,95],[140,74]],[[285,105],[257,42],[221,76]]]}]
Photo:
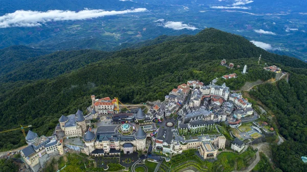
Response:
[{"label": "longest white cloud band, stretching in from the upper left edge", "polygon": [[47,12],[17,10],[14,13],[8,13],[3,16],[0,16],[0,28],[36,27],[36,26],[41,26],[42,23],[50,21],[84,20],[84,19],[97,18],[107,15],[137,13],[144,11],[147,11],[146,8],[136,8],[124,11],[104,11],[100,9],[98,10],[85,9],[79,12],[62,11],[62,10],[49,10]]}]

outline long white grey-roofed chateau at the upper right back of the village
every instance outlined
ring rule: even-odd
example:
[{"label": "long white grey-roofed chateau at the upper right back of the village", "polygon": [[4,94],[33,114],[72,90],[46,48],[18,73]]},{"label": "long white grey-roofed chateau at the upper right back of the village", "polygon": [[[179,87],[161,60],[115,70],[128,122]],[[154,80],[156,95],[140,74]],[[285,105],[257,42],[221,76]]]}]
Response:
[{"label": "long white grey-roofed chateau at the upper right back of the village", "polygon": [[229,87],[226,87],[225,83],[222,86],[214,85],[214,83],[212,83],[201,87],[200,91],[205,97],[222,97],[225,101],[228,100],[230,93]]}]

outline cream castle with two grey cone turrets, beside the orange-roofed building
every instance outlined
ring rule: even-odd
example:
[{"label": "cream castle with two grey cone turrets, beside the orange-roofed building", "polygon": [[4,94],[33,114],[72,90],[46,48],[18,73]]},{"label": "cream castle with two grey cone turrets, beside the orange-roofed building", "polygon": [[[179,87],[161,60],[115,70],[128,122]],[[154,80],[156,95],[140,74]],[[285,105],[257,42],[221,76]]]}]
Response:
[{"label": "cream castle with two grey cone turrets, beside the orange-roofed building", "polygon": [[64,131],[65,136],[70,137],[81,137],[85,133],[86,123],[83,117],[82,111],[78,110],[76,114],[68,116],[62,115],[59,118],[61,130]]}]

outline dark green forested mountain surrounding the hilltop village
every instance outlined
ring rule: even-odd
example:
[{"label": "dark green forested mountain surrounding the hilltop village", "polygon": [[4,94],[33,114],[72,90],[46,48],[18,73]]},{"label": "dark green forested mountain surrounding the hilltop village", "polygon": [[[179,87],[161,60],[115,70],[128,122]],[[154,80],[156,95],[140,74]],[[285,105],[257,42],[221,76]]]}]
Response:
[{"label": "dark green forested mountain surrounding the hilltop village", "polygon": [[[14,70],[13,75],[6,77],[7,80],[0,84],[0,131],[22,124],[32,125],[32,130],[39,135],[49,135],[62,114],[75,113],[78,108],[85,110],[90,105],[92,94],[97,97],[118,96],[122,102],[129,103],[163,100],[172,88],[187,80],[199,79],[208,84],[216,77],[232,72],[239,74],[242,71],[243,68],[229,69],[221,66],[222,59],[227,59],[227,63],[249,66],[248,75],[239,74],[237,79],[231,79],[234,83],[229,85],[231,89],[242,86],[246,81],[267,80],[274,76],[263,70],[263,66],[257,65],[258,57],[262,54],[261,63],[278,65],[290,72],[290,81],[289,84],[278,82],[277,86],[264,85],[264,92],[261,92],[259,86],[252,95],[276,110],[280,132],[284,137],[304,146],[306,114],[303,110],[307,109],[307,93],[303,89],[304,81],[301,80],[306,81],[306,63],[268,53],[241,36],[212,28],[195,36],[161,39],[166,41],[149,43],[149,46],[144,47],[137,45],[136,49],[112,53],[81,50],[57,52],[33,59],[28,69]],[[45,61],[48,63],[45,64]],[[40,64],[43,67],[39,68]],[[26,81],[29,79],[33,81]],[[286,94],[288,90],[290,95]],[[270,101],[266,102],[268,99]],[[282,112],[284,109],[281,105],[291,107],[289,112]],[[292,124],[292,121],[296,122]],[[292,130],[295,125],[300,127],[300,133],[282,131],[282,128]],[[23,144],[25,139],[18,131],[0,135],[2,150]],[[284,151],[287,154],[287,150]],[[294,158],[297,160],[298,156],[295,154]],[[285,163],[278,159],[276,161],[280,166]]]}]

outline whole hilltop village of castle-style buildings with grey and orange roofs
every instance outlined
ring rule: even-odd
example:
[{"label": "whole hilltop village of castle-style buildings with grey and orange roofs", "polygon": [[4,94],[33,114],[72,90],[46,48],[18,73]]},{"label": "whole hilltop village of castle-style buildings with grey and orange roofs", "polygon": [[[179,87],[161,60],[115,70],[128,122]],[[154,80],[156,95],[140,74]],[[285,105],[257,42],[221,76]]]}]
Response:
[{"label": "whole hilltop village of castle-style buildings with grey and orange roofs", "polygon": [[[225,64],[223,59],[221,65]],[[280,71],[276,66],[265,69]],[[245,65],[242,73],[246,72]],[[225,146],[244,152],[248,144],[275,133],[267,122],[257,121],[258,113],[241,93],[233,92],[225,83],[215,83],[216,79],[209,85],[187,81],[170,90],[163,102],[146,105],[123,105],[117,97],[97,99],[92,95],[86,114],[78,110],[61,115],[52,136],[29,131],[28,146],[21,156],[32,171],[39,171],[52,156],[69,151],[118,158],[139,153],[145,155],[143,159],[159,162],[194,149],[203,159],[215,159]],[[230,135],[221,131],[221,122],[230,126]],[[139,160],[133,161],[125,165],[133,166]]]}]

